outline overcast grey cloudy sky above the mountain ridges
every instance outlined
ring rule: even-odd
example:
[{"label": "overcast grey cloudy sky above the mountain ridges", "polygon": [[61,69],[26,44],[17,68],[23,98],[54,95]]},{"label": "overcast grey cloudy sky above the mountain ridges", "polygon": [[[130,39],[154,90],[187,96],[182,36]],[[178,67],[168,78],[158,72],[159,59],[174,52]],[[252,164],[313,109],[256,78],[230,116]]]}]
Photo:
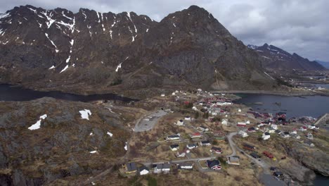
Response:
[{"label": "overcast grey cloudy sky above the mountain ridges", "polygon": [[198,5],[245,44],[273,44],[310,60],[329,61],[328,0],[0,0],[0,12],[31,4],[42,8],[134,11],[160,21],[174,11]]}]

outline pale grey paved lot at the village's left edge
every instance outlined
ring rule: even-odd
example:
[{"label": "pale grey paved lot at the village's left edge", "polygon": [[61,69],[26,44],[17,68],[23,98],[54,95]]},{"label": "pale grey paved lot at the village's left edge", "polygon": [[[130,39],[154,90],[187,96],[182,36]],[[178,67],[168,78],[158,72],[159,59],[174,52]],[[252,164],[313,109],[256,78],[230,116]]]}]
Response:
[{"label": "pale grey paved lot at the village's left edge", "polygon": [[166,114],[167,112],[159,110],[149,113],[146,116],[143,116],[142,118],[137,120],[134,132],[143,132],[151,130],[152,128],[154,128],[154,125],[157,123],[157,120],[159,120],[162,116],[165,116]]}]

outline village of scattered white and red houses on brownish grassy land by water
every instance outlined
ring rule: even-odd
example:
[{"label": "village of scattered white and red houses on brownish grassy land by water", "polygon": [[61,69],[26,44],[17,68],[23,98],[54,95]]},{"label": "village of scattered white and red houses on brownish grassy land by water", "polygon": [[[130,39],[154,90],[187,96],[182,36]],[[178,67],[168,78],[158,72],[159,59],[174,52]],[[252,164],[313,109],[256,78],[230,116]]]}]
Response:
[{"label": "village of scattered white and red houses on brownish grassy land by water", "polygon": [[285,165],[294,160],[273,147],[280,140],[314,148],[320,130],[316,118],[259,113],[234,104],[234,94],[176,90],[157,99],[163,107],[142,116],[132,128],[131,158],[120,167],[124,177],[235,169],[271,175],[267,179],[273,185],[293,184]]}]

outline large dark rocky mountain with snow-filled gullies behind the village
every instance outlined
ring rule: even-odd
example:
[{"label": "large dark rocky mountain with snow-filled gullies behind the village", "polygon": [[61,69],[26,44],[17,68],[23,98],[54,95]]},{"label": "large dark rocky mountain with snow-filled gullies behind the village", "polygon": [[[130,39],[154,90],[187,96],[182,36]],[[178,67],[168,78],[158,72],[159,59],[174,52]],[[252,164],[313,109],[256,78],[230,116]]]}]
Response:
[{"label": "large dark rocky mountain with snow-filled gullies behind the village", "polygon": [[156,22],[134,12],[27,5],[0,21],[1,82],[78,93],[276,86],[256,52],[198,6]]}]

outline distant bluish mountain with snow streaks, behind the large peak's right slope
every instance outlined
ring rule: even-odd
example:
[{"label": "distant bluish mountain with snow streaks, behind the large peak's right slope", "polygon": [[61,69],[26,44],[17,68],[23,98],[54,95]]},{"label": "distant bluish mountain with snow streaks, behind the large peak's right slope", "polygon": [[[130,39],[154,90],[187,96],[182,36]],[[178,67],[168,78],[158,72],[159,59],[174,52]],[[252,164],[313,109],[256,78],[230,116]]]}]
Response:
[{"label": "distant bluish mountain with snow streaks, behind the large peak's right slope", "polygon": [[263,46],[247,45],[248,48],[257,51],[262,60],[264,67],[269,70],[325,70],[321,64],[316,61],[309,61],[298,54],[289,54],[287,51],[276,46],[264,44]]}]

